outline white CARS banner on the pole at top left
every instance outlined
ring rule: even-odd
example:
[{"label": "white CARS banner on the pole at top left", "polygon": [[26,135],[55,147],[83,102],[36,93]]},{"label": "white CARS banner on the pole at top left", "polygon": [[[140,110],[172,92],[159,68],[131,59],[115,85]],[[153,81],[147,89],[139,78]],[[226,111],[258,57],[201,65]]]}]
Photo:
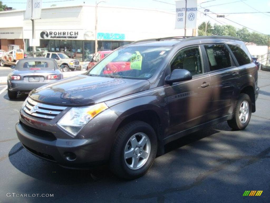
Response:
[{"label": "white CARS banner on the pole at top left", "polygon": [[39,19],[41,14],[42,0],[27,0],[24,19]]}]

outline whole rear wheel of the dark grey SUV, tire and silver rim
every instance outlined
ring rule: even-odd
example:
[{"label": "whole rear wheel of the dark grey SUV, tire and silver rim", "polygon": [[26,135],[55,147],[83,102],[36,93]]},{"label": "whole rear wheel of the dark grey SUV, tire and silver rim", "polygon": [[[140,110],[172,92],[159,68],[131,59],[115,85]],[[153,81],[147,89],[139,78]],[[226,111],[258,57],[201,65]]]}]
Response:
[{"label": "whole rear wheel of the dark grey SUV, tire and silver rim", "polygon": [[234,116],[228,120],[228,125],[234,130],[243,130],[248,126],[251,118],[252,104],[247,94],[240,94],[234,110]]}]

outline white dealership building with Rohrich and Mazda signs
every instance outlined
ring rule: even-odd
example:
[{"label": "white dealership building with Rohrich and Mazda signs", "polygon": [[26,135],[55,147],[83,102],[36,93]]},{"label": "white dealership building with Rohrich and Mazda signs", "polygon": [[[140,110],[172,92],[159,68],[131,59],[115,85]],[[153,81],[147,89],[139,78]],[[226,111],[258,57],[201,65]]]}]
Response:
[{"label": "white dealership building with Rohrich and Mazda signs", "polygon": [[[24,20],[24,10],[0,12],[0,46],[16,44],[30,52],[32,21]],[[95,5],[43,8],[35,20],[40,46],[51,52],[66,53],[84,61],[95,51]],[[175,29],[175,12],[155,9],[101,6],[97,8],[98,50],[114,50],[133,41],[183,36]],[[188,29],[191,36],[194,30]]]}]

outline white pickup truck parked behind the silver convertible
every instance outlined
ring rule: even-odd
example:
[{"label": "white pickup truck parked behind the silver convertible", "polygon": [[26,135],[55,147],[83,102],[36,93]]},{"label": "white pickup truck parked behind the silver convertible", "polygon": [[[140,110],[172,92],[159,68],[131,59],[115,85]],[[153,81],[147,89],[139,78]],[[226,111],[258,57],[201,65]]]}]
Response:
[{"label": "white pickup truck parked behind the silver convertible", "polygon": [[69,70],[74,71],[75,69],[80,70],[81,68],[79,60],[69,58],[66,54],[63,53],[48,52],[46,58],[55,59],[56,63],[63,72],[67,72]]}]

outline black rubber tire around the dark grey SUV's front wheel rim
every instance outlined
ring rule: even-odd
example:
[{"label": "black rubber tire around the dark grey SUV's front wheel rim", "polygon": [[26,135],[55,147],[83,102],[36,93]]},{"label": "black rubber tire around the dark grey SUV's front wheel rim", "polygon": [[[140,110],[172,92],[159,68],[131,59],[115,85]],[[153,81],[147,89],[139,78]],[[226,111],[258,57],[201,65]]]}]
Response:
[{"label": "black rubber tire around the dark grey SUV's front wheel rim", "polygon": [[[126,164],[124,152],[130,138],[136,133],[144,133],[147,135],[147,137],[149,137],[150,153],[148,159],[140,168],[130,169]],[[117,137],[111,150],[110,169],[119,178],[126,180],[139,178],[140,176],[143,176],[152,166],[154,159],[156,158],[156,153],[157,136],[154,129],[145,122],[133,121],[117,131]]]}]

